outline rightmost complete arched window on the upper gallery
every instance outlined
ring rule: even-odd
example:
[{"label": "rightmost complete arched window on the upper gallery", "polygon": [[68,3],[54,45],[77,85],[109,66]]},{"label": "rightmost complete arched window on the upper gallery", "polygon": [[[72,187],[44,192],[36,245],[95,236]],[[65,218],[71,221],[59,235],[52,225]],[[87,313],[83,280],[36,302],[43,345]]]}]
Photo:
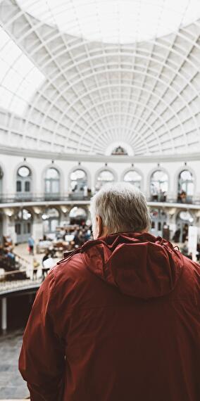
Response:
[{"label": "rightmost complete arched window on the upper gallery", "polygon": [[177,201],[192,202],[192,196],[194,196],[194,177],[189,170],[182,170],[178,177]]}]

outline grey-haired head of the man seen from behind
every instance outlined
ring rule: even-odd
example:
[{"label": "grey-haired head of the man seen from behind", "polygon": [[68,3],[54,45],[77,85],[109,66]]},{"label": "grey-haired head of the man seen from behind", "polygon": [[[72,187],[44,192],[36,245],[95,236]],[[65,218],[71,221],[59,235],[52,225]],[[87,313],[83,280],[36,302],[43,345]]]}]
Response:
[{"label": "grey-haired head of the man seen from behind", "polygon": [[117,232],[148,231],[151,218],[146,199],[132,184],[104,185],[91,200],[94,238]]}]

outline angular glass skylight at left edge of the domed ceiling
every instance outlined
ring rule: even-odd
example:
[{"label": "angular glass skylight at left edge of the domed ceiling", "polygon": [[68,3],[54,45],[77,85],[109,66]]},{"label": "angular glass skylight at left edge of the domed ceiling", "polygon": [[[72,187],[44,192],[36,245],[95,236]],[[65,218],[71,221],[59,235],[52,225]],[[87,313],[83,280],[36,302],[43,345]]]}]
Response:
[{"label": "angular glass skylight at left edge of the domed ceiling", "polygon": [[23,115],[44,75],[0,27],[0,106]]}]

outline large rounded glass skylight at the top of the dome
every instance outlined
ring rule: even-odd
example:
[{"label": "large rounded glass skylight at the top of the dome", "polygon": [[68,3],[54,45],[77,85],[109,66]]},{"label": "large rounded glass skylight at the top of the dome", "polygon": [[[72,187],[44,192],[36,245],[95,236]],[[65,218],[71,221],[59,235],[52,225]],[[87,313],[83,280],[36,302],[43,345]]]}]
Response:
[{"label": "large rounded glass skylight at the top of the dome", "polygon": [[107,43],[154,39],[200,18],[199,0],[18,0],[18,4],[62,32]]}]

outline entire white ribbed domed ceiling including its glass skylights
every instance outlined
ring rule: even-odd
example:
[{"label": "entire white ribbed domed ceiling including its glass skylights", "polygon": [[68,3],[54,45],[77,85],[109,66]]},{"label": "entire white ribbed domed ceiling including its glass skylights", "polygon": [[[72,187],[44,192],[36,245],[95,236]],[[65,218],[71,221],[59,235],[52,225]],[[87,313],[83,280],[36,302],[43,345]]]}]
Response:
[{"label": "entire white ribbed domed ceiling including its glass skylights", "polygon": [[1,146],[200,152],[199,15],[199,0],[0,0]]}]

